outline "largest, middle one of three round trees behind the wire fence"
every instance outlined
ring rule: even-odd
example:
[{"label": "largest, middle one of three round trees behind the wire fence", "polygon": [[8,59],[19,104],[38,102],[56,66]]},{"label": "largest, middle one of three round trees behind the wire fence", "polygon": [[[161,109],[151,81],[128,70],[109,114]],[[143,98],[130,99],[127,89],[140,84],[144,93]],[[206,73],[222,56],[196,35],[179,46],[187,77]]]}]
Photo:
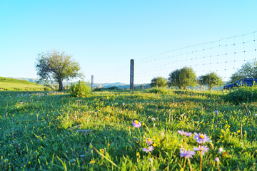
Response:
[{"label": "largest, middle one of three round trees behind the wire fence", "polygon": [[191,67],[183,67],[168,74],[168,86],[178,86],[186,89],[188,86],[196,86],[196,73]]}]

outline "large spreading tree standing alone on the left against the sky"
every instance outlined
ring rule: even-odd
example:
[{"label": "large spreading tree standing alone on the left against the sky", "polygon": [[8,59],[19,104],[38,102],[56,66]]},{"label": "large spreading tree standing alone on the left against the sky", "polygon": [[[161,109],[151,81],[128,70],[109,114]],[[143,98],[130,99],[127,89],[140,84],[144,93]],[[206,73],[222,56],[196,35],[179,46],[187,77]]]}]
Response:
[{"label": "large spreading tree standing alone on the left against the sky", "polygon": [[63,81],[70,81],[73,78],[83,78],[79,73],[79,63],[65,52],[56,50],[39,53],[35,63],[39,81],[56,81],[59,83],[59,90],[63,90]]}]

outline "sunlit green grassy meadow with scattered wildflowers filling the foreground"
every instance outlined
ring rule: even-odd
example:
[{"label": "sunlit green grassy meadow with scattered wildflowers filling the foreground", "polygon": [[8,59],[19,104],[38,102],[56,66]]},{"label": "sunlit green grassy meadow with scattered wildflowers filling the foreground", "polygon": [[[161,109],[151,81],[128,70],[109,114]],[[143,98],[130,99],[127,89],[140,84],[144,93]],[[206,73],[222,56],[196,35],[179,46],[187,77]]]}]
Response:
[{"label": "sunlit green grassy meadow with scattered wildflowers filling the foreground", "polygon": [[[222,91],[114,90],[72,98],[0,91],[0,170],[199,170],[201,152],[191,164],[180,153],[198,142],[178,130],[211,138],[203,143],[209,148],[203,170],[218,170],[218,164],[221,170],[255,170],[257,103],[233,105],[222,96]],[[69,130],[76,125],[94,132]],[[154,150],[145,152],[149,146]]]}]

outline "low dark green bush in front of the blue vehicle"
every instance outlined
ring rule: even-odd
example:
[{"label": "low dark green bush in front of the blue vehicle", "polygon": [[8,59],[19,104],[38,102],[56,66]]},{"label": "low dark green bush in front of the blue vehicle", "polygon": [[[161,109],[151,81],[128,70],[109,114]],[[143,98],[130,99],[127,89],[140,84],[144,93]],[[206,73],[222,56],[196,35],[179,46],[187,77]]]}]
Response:
[{"label": "low dark green bush in front of the blue vehicle", "polygon": [[231,88],[226,95],[223,95],[223,100],[239,103],[247,103],[257,101],[257,86],[241,86],[239,88]]}]

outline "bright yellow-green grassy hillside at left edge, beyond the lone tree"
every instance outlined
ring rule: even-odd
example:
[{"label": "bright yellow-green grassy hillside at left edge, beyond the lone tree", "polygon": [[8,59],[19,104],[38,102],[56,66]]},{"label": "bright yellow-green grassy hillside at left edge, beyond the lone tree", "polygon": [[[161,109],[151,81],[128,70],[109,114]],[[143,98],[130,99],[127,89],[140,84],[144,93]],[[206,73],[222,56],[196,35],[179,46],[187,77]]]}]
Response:
[{"label": "bright yellow-green grassy hillside at left edge, beyond the lone tree", "polygon": [[44,86],[29,81],[0,77],[0,90],[44,90]]}]

